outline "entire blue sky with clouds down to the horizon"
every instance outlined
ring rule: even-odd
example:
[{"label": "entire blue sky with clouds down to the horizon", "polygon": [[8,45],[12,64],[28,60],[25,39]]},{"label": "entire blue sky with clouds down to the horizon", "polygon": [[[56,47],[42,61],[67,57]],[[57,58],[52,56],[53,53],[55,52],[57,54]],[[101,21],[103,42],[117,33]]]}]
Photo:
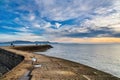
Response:
[{"label": "entire blue sky with clouds down to the horizon", "polygon": [[0,42],[120,42],[120,0],[0,0]]}]

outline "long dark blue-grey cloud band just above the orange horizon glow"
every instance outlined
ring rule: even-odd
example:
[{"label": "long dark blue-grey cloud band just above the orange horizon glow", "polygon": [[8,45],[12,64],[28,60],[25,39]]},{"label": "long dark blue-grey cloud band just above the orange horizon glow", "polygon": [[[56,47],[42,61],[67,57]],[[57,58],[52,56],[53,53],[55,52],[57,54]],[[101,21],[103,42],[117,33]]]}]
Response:
[{"label": "long dark blue-grey cloud band just above the orange horizon glow", "polygon": [[97,30],[88,28],[87,32],[74,32],[65,34],[68,37],[84,38],[84,37],[109,37],[112,36],[112,31],[109,28],[99,28]]}]

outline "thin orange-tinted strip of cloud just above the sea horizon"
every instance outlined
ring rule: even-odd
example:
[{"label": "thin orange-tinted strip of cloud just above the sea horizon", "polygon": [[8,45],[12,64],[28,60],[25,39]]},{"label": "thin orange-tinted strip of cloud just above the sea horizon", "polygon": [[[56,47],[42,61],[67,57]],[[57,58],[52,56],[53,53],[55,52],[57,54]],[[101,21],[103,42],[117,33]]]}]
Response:
[{"label": "thin orange-tinted strip of cloud just above the sea horizon", "polygon": [[120,43],[120,38],[102,37],[102,38],[59,38],[57,42],[76,42],[76,43]]}]

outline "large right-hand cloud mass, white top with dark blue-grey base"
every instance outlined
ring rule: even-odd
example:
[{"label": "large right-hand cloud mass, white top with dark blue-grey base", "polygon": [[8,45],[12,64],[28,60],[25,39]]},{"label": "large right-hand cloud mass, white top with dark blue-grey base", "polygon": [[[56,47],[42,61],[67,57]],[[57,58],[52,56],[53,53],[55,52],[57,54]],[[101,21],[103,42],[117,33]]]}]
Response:
[{"label": "large right-hand cloud mass, white top with dark blue-grey base", "polygon": [[[49,34],[52,33],[55,37],[71,38],[120,37],[120,11],[118,8],[120,5],[117,1],[109,3],[110,5],[107,6],[97,6],[92,11],[95,15],[88,15],[89,19],[82,20],[81,24],[62,25],[58,30],[49,31]],[[103,2],[103,4],[107,3]]]}]

